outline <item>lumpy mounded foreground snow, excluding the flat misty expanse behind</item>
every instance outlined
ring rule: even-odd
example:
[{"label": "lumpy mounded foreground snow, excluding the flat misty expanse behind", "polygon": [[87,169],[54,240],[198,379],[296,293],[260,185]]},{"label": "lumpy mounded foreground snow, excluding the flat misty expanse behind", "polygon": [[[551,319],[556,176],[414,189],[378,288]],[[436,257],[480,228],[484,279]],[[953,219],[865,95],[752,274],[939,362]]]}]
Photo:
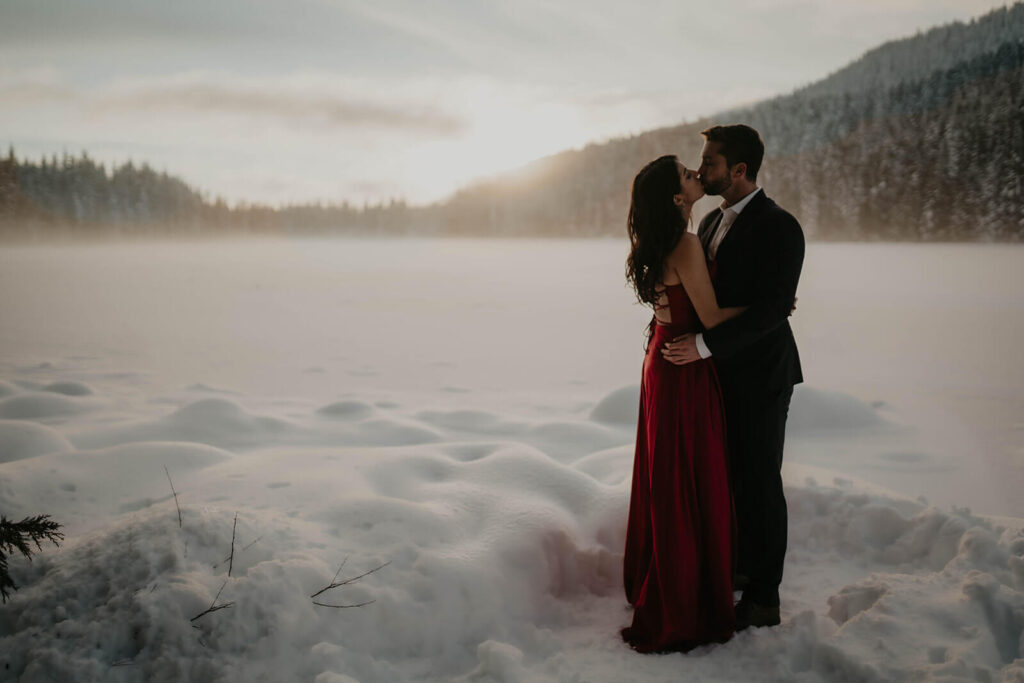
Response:
[{"label": "lumpy mounded foreground snow, excluding the flat misty expanse behind", "polygon": [[[114,380],[49,379],[0,382],[0,510],[68,532],[11,562],[4,680],[1024,680],[1020,526],[799,464],[783,625],[629,650],[636,387],[543,420],[411,396],[272,412],[209,387],[126,417]],[[806,387],[791,424],[898,429]],[[343,560],[339,581],[384,566],[317,599],[372,602],[314,605]],[[218,591],[233,606],[191,622]]]}]

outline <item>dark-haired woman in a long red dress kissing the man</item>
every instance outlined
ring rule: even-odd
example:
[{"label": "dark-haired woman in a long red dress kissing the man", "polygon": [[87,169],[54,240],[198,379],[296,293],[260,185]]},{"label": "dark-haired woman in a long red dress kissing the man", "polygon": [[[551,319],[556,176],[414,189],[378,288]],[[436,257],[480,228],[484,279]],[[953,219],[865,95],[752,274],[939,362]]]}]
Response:
[{"label": "dark-haired woman in a long red dress kissing the man", "polygon": [[642,652],[688,650],[732,636],[732,498],[725,412],[710,360],[677,366],[662,346],[738,314],[719,308],[700,241],[687,231],[703,196],[674,156],[633,181],[626,276],[654,309],[640,388],[624,558],[633,624],[622,636]]}]

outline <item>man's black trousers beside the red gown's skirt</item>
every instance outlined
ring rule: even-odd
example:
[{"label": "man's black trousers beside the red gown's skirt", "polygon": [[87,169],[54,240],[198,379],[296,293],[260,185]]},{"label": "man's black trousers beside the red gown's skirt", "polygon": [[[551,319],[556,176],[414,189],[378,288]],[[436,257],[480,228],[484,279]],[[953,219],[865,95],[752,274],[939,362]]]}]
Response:
[{"label": "man's black trousers beside the red gown's skirt", "polygon": [[782,493],[782,449],[793,387],[752,395],[723,387],[729,474],[736,508],[736,571],[748,600],[778,604],[788,522]]}]

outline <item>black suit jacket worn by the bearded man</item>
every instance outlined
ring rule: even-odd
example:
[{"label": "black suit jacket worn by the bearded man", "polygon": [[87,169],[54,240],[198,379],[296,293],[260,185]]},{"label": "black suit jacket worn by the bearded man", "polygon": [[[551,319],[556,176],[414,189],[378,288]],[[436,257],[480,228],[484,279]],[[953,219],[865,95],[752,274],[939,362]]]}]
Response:
[{"label": "black suit jacket worn by the bearded man", "polygon": [[[708,245],[721,209],[700,221]],[[750,306],[705,332],[726,392],[777,393],[803,381],[790,311],[804,264],[804,231],[787,211],[760,190],[736,217],[715,258],[718,305]]]}]

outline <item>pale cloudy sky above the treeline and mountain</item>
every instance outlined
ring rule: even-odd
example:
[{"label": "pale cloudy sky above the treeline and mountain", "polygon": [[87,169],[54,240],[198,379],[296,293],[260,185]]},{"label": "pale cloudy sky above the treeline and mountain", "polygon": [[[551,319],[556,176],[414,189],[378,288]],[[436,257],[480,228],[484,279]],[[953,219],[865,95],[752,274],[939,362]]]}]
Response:
[{"label": "pale cloudy sky above the treeline and mountain", "polygon": [[1004,4],[0,0],[0,142],[147,162],[231,203],[424,204]]}]

